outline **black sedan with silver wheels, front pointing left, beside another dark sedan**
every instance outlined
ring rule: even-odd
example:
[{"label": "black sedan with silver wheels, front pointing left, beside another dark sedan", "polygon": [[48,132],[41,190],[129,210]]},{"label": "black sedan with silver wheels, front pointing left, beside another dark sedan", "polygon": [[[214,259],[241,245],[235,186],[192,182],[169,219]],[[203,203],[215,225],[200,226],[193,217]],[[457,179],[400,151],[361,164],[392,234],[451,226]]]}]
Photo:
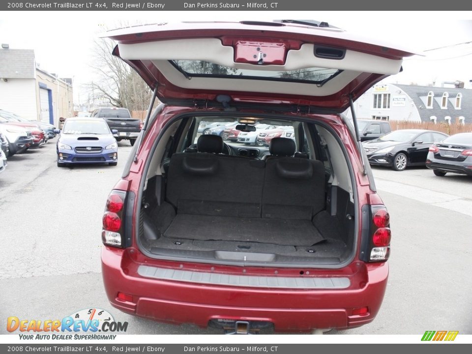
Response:
[{"label": "black sedan with silver wheels, front pointing left, beside another dark sedan", "polygon": [[362,143],[371,165],[403,171],[407,166],[424,166],[429,147],[448,135],[423,129],[400,129]]}]

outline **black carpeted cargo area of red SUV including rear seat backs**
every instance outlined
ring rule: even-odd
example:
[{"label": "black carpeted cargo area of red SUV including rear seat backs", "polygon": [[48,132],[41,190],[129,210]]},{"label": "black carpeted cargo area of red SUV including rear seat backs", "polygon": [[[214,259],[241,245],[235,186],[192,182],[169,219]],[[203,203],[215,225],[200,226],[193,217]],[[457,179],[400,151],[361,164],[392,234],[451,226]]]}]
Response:
[{"label": "black carpeted cargo area of red SUV including rear seat backs", "polygon": [[263,159],[220,147],[220,137],[202,136],[148,179],[140,219],[148,254],[254,265],[337,265],[352,255],[354,207],[332,185],[331,164],[295,153],[290,139]]}]

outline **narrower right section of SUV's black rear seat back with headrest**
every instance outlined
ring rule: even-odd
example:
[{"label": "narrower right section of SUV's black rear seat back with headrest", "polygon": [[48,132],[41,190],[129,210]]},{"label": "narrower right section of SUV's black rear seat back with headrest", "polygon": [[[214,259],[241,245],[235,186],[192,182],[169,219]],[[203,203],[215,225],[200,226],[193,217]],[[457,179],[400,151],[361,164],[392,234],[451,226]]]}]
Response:
[{"label": "narrower right section of SUV's black rear seat back with headrest", "polygon": [[324,165],[321,161],[291,157],[295,143],[274,138],[266,159],[262,217],[311,220],[325,208]]}]

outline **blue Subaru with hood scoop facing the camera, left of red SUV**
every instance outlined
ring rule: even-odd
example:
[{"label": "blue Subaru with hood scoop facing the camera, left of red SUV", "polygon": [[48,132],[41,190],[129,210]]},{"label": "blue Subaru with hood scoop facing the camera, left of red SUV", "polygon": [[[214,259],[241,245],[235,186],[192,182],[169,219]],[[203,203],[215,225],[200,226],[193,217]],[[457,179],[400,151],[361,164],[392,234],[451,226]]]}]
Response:
[{"label": "blue Subaru with hood scoop facing the camera, left of red SUV", "polygon": [[[59,131],[56,131],[59,132]],[[57,143],[58,166],[118,164],[118,144],[101,118],[67,118]]]}]

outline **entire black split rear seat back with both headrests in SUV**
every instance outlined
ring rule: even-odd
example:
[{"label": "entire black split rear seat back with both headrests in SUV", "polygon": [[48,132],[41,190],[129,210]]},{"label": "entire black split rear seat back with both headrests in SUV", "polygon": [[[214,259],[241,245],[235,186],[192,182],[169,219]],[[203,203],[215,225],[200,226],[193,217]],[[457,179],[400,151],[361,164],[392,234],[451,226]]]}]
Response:
[{"label": "entire black split rear seat back with both headrests in SUV", "polygon": [[325,208],[324,165],[291,157],[293,140],[274,138],[260,161],[219,154],[219,137],[208,137],[201,152],[171,158],[166,198],[178,214],[311,220]]}]

